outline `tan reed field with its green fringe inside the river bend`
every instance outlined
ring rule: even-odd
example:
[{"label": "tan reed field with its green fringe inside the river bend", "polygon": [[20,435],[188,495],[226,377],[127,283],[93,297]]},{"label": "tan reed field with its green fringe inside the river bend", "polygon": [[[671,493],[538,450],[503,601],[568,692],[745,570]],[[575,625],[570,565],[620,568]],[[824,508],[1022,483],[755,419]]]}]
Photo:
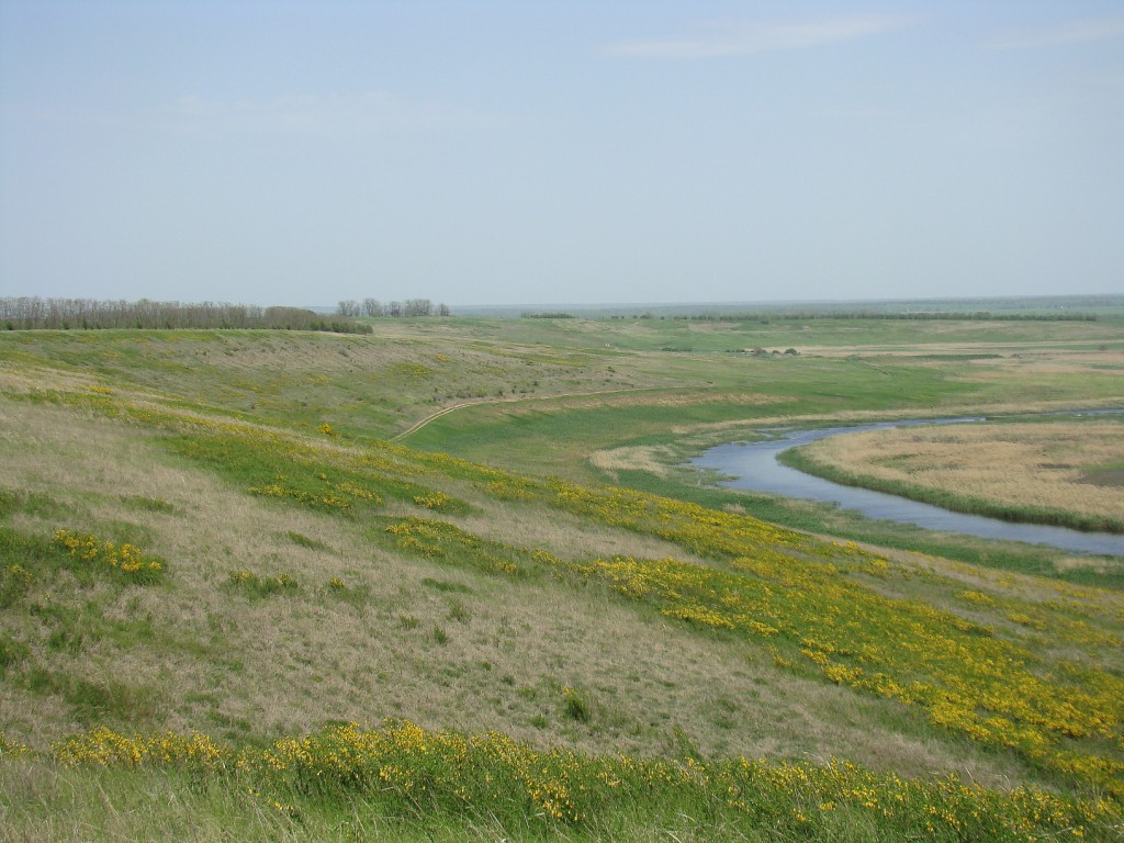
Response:
[{"label": "tan reed field with its green fringe inside the river bend", "polygon": [[958,511],[1124,532],[1124,423],[1112,417],[870,430],[799,456],[814,473]]}]

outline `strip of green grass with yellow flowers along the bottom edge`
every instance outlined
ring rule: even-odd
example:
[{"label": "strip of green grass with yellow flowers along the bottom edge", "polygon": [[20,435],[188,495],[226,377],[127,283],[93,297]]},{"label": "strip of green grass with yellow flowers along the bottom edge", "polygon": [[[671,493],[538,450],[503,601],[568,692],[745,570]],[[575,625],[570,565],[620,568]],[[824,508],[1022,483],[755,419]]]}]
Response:
[{"label": "strip of green grass with yellow flowers along the bottom edge", "polygon": [[264,751],[93,732],[55,756],[63,769],[25,755],[0,770],[11,831],[46,827],[48,804],[58,839],[71,826],[101,830],[98,840],[180,830],[194,840],[1107,841],[1121,819],[1109,805],[954,777],[903,781],[841,761],[537,752],[409,723],[327,728]]}]

